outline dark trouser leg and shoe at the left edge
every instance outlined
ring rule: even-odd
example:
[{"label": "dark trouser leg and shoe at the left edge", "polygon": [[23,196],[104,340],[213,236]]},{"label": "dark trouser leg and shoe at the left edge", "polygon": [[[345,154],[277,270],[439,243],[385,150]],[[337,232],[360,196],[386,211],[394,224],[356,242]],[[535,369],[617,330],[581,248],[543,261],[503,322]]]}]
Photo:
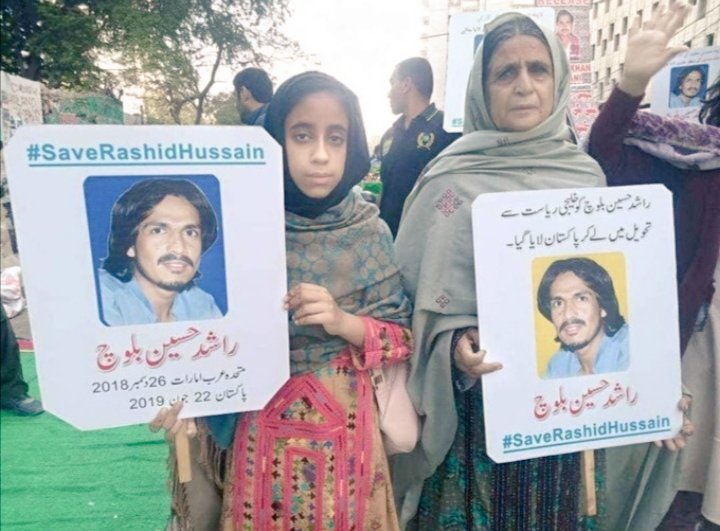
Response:
[{"label": "dark trouser leg and shoe at the left edge", "polygon": [[0,341],[0,408],[23,416],[39,415],[44,409],[39,400],[28,395],[20,365],[20,348],[1,304]]}]

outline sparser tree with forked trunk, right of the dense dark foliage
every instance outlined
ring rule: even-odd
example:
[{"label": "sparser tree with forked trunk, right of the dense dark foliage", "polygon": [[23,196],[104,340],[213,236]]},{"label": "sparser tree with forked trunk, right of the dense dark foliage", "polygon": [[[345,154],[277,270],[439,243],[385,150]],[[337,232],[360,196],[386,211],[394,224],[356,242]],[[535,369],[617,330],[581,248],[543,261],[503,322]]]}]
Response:
[{"label": "sparser tree with forked trunk, right of the dense dark foliage", "polygon": [[[153,4],[143,14],[149,32],[126,34],[125,60],[140,85],[163,94],[175,123],[194,111],[200,123],[221,64],[265,64],[278,48],[292,49],[280,26],[288,0],[177,0]],[[140,2],[142,3],[142,2]],[[135,12],[142,11],[134,6]],[[129,26],[126,26],[129,27]],[[204,68],[199,69],[198,66]],[[204,75],[203,75],[204,74]]]}]

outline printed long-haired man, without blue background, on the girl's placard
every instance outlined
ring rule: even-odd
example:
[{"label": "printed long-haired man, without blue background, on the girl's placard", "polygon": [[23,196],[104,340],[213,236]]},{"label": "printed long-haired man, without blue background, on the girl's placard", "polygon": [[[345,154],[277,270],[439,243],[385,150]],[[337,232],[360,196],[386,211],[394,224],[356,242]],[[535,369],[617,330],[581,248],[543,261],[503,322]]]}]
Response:
[{"label": "printed long-haired man, without blue background, on the girl's placard", "polygon": [[186,179],[143,179],[112,208],[107,256],[98,271],[109,326],[222,317],[196,285],[202,255],[218,236],[205,194]]}]

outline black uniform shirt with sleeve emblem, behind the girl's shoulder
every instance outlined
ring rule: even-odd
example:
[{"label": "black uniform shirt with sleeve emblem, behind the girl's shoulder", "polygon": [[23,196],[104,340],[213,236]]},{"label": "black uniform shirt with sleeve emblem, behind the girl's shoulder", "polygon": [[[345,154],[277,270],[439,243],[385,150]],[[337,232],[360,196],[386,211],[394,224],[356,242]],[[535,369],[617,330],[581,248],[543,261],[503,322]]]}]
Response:
[{"label": "black uniform shirt with sleeve emblem, behind the girl's shoulder", "polygon": [[425,165],[460,135],[446,133],[443,113],[431,103],[405,129],[401,116],[380,140],[380,217],[397,235],[405,198]]}]

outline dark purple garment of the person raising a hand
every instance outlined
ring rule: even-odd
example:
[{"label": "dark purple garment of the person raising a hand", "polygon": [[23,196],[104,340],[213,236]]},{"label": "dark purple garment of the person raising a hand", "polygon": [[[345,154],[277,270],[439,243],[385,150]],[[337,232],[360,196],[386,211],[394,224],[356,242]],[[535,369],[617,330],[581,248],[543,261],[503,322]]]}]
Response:
[{"label": "dark purple garment of the person raising a hand", "polygon": [[[673,192],[680,349],[684,352],[700,308],[714,292],[713,272],[720,250],[720,170],[681,169],[625,145],[641,100],[615,88],[593,124],[588,151],[602,166],[610,186],[660,183]],[[641,118],[635,124],[648,135],[655,131],[665,142],[688,134],[691,140],[684,144],[693,144],[693,149],[705,148],[703,139],[712,143],[718,138],[717,127],[678,125],[660,116]],[[686,126],[696,132],[688,133]]]}]

